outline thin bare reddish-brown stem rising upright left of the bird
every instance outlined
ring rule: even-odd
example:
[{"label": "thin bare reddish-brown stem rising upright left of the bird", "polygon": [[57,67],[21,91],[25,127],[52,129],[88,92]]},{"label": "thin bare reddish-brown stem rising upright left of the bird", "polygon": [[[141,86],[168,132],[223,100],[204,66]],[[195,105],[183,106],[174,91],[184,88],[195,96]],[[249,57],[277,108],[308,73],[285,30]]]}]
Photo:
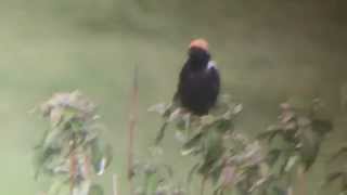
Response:
[{"label": "thin bare reddish-brown stem rising upright left of the bird", "polygon": [[129,116],[129,129],[128,129],[128,181],[130,195],[133,194],[132,176],[133,176],[133,133],[136,123],[138,120],[138,101],[139,101],[139,86],[138,86],[138,67],[133,70],[133,87],[131,93],[131,109]]}]

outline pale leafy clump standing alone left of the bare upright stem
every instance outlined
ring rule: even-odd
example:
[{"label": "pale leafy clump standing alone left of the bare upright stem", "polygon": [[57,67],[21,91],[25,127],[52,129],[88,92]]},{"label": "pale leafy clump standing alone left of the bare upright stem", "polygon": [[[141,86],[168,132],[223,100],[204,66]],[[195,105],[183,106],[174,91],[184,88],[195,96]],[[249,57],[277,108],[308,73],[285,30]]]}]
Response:
[{"label": "pale leafy clump standing alone left of the bare upright stem", "polygon": [[112,154],[101,138],[97,106],[74,91],[54,94],[40,105],[39,113],[50,128],[35,148],[36,178],[52,178],[48,195],[103,194],[93,178],[104,173]]}]

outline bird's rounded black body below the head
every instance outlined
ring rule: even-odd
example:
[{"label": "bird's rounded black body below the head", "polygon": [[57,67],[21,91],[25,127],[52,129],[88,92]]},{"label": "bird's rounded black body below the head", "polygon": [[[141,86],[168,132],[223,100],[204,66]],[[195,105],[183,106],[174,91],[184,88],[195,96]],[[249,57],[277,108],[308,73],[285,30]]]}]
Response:
[{"label": "bird's rounded black body below the head", "polygon": [[178,98],[183,107],[196,115],[205,115],[215,105],[220,78],[216,67],[191,69],[185,65],[180,74]]}]

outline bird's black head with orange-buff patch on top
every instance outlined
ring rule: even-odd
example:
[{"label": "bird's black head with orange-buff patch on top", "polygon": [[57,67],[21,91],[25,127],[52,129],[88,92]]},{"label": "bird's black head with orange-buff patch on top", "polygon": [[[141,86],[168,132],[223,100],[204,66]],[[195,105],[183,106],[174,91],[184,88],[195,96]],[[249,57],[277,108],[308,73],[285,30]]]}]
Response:
[{"label": "bird's black head with orange-buff patch on top", "polygon": [[208,42],[205,39],[194,39],[189,46],[189,61],[193,67],[205,67],[209,62]]}]

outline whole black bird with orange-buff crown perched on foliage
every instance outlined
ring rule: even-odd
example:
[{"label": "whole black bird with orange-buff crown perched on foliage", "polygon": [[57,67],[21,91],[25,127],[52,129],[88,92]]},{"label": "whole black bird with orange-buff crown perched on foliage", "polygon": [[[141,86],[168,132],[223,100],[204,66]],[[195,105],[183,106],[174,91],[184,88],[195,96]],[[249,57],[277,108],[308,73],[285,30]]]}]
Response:
[{"label": "whole black bird with orange-buff crown perched on foliage", "polygon": [[175,100],[191,113],[202,116],[215,105],[220,77],[204,39],[195,39],[189,47],[189,57],[181,69]]}]

